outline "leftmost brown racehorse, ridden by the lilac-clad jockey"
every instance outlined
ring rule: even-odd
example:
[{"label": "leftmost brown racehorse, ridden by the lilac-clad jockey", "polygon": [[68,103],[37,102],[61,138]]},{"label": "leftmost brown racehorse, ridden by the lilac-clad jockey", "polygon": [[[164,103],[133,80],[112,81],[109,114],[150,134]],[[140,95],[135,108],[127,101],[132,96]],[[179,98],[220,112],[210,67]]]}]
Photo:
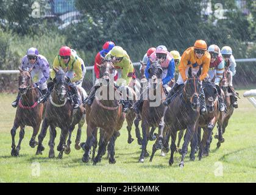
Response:
[{"label": "leftmost brown racehorse, ridden by the lilac-clad jockey", "polygon": [[[21,94],[21,100],[18,103],[16,110],[16,115],[11,130],[12,134],[12,156],[20,155],[21,141],[24,138],[24,128],[25,126],[33,127],[33,134],[29,141],[30,147],[35,147],[38,143],[35,141],[38,130],[40,128],[41,119],[43,116],[43,104],[37,104],[37,99],[39,98],[38,90],[33,87],[33,82],[31,80],[31,74],[33,68],[29,71],[23,71],[20,69],[19,76],[19,91]],[[15,148],[15,134],[16,129],[21,127],[20,130],[20,140],[18,146]]]}]

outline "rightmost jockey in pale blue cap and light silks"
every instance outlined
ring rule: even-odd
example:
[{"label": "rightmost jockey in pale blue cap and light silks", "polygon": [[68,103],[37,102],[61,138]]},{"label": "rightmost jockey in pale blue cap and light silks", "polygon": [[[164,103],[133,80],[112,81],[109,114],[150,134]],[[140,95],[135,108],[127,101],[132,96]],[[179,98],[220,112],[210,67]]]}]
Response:
[{"label": "rightmost jockey in pale blue cap and light silks", "polygon": [[[236,62],[235,62],[235,58],[232,55],[232,49],[229,46],[224,46],[221,49],[221,54],[224,59],[225,68],[228,68],[230,70],[232,77],[235,76]],[[235,93],[235,90],[233,89],[232,77],[230,79],[229,85],[230,85],[232,91]],[[230,96],[230,101],[234,108],[238,108],[237,98],[235,96]]]}]

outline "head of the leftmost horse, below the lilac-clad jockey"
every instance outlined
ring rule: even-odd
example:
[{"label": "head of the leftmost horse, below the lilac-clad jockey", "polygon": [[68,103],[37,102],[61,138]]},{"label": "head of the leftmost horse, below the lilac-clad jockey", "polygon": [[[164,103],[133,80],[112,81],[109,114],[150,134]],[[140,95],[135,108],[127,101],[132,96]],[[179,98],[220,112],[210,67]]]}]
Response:
[{"label": "head of the leftmost horse, below the lilac-clad jockey", "polygon": [[31,81],[31,71],[33,68],[30,68],[28,71],[24,71],[19,67],[20,76],[19,76],[19,91],[20,94],[26,94],[29,89],[32,81]]}]

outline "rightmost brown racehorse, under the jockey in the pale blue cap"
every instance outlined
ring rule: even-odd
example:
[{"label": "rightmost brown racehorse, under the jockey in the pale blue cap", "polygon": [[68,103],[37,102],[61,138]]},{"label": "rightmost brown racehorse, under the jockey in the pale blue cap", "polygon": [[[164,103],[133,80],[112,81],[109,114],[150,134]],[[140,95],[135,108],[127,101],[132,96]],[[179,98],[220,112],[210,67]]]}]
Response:
[{"label": "rightmost brown racehorse, under the jockey in the pale blue cap", "polygon": [[215,138],[218,139],[217,148],[221,146],[221,143],[224,143],[223,133],[226,130],[227,125],[229,124],[229,119],[233,114],[234,108],[230,101],[230,96],[238,96],[233,92],[232,87],[230,87],[230,79],[232,75],[228,68],[224,70],[224,76],[221,80],[220,87],[224,91],[223,99],[227,106],[227,110],[221,113],[221,116],[218,120],[218,134],[215,135]]}]

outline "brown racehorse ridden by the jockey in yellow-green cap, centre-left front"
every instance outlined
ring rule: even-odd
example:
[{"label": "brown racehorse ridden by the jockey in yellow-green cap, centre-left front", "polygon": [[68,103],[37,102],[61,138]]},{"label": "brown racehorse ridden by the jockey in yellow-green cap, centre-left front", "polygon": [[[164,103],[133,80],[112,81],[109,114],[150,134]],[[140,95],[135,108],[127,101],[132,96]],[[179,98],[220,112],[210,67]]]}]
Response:
[{"label": "brown racehorse ridden by the jockey in yellow-green cap, centre-left front", "polygon": [[[101,86],[102,92],[104,90],[107,94],[103,94],[105,99],[98,98],[97,92],[95,99],[91,107],[87,104],[85,105],[86,109],[86,121],[87,121],[87,140],[83,144],[84,155],[82,161],[85,163],[89,160],[89,153],[91,146],[95,144],[97,139],[97,127],[102,129],[102,138],[99,141],[98,154],[93,159],[93,165],[96,165],[98,161],[101,161],[102,155],[104,154],[105,148],[108,144],[108,152],[110,154],[109,163],[115,163],[115,140],[118,137],[118,130],[123,126],[125,119],[124,113],[122,113],[122,105],[119,104],[116,96],[110,98],[110,88],[113,87],[109,85],[110,76],[115,67],[113,62],[110,60],[104,60],[100,65],[100,76],[104,85]],[[114,91],[116,91],[113,88]],[[119,93],[116,93],[119,94]],[[108,143],[109,141],[109,143]]]}]

